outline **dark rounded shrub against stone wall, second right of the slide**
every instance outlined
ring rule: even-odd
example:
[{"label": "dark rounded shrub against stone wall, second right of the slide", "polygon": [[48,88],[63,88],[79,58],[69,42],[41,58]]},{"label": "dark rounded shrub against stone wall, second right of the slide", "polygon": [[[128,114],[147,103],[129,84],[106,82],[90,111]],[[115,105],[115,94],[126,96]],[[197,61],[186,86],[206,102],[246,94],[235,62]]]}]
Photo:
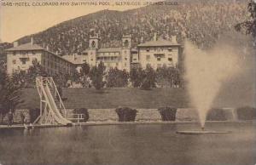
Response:
[{"label": "dark rounded shrub against stone wall, second right of the slide", "polygon": [[119,117],[119,122],[134,122],[137,110],[128,107],[117,108],[115,110]]}]

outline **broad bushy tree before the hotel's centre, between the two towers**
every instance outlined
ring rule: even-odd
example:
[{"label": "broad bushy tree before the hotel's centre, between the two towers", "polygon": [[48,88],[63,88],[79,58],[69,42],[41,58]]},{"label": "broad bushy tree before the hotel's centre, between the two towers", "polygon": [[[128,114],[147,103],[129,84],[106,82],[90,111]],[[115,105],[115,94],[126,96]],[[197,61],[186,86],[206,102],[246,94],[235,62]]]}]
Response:
[{"label": "broad bushy tree before the hotel's centre, between the two towers", "polygon": [[126,87],[128,85],[129,73],[125,70],[121,71],[118,68],[111,68],[107,75],[107,87]]}]

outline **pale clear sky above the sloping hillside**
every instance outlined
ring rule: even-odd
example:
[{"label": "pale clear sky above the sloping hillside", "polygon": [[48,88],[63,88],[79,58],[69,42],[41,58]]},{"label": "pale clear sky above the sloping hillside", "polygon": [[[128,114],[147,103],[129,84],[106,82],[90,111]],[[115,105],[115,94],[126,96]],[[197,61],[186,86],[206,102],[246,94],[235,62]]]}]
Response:
[{"label": "pale clear sky above the sloping hillside", "polygon": [[[15,6],[19,0],[0,0],[0,42],[12,43],[20,37],[44,31],[65,20],[71,20],[82,15],[95,13],[102,9],[124,11],[143,7],[144,3],[135,5],[116,5],[117,0],[102,0],[110,5],[80,5],[71,6],[72,2],[96,2],[92,0],[69,0],[69,6],[32,6],[36,2],[47,2],[48,0],[25,0],[30,6]],[[113,2],[115,1],[115,2]],[[119,2],[128,0],[119,0]],[[68,2],[68,0],[52,0],[51,2]],[[131,1],[130,1],[131,2]],[[12,3],[12,6],[6,6]],[[4,5],[5,4],[5,5]]]}]

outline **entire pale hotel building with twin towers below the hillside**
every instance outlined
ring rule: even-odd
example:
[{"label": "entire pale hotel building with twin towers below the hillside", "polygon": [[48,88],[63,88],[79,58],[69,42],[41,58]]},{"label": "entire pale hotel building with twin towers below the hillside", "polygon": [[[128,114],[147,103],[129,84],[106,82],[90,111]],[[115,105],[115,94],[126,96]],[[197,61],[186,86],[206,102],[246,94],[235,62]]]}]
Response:
[{"label": "entire pale hotel building with twin towers below the hillside", "polygon": [[150,65],[154,69],[166,65],[177,67],[181,54],[181,45],[176,37],[172,40],[157,39],[141,43],[137,48],[131,48],[131,35],[122,37],[122,46],[119,48],[101,48],[100,37],[90,36],[89,46],[83,54],[59,56],[43,48],[38,44],[26,43],[14,44],[7,52],[7,71],[27,71],[33,60],[37,60],[49,75],[64,73],[72,74],[78,71],[85,62],[90,66],[98,65],[101,61],[107,69],[118,68],[119,70],[131,71],[133,66],[141,66],[143,69]]}]

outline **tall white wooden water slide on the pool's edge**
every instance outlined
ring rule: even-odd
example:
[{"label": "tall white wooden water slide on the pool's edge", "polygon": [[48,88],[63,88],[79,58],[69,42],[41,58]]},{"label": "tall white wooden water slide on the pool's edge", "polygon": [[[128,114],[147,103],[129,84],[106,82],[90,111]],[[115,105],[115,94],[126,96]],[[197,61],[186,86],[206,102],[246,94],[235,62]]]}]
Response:
[{"label": "tall white wooden water slide on the pool's edge", "polygon": [[35,122],[40,124],[61,124],[71,126],[67,120],[67,110],[61,100],[52,77],[37,77],[36,84],[40,96],[40,116]]}]

